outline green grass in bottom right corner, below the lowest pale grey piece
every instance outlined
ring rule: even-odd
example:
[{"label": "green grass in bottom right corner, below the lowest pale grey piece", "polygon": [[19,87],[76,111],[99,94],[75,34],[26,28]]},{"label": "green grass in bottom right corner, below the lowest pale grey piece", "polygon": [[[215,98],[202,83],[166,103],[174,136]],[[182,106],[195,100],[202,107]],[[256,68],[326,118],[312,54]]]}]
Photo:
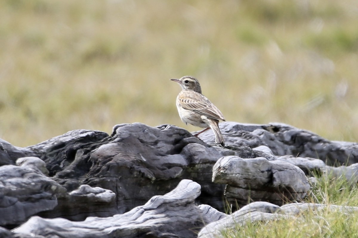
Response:
[{"label": "green grass in bottom right corner, below the lowest pale grey piece", "polygon": [[347,217],[336,211],[324,209],[307,212],[296,218],[268,222],[248,223],[245,227],[226,231],[225,238],[301,238],[301,237],[357,237],[357,213]]}]

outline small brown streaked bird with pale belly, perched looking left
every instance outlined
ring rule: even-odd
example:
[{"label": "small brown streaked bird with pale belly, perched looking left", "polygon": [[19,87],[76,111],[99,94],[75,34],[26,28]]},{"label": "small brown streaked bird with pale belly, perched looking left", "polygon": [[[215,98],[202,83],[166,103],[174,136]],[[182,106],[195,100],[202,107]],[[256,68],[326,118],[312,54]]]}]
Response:
[{"label": "small brown streaked bird with pale belly, perched looking left", "polygon": [[188,125],[205,128],[194,136],[211,128],[215,135],[215,142],[225,146],[224,138],[219,129],[219,121],[226,121],[221,111],[202,94],[199,81],[192,76],[180,79],[170,79],[179,83],[182,91],[176,97],[176,108],[180,119]]}]

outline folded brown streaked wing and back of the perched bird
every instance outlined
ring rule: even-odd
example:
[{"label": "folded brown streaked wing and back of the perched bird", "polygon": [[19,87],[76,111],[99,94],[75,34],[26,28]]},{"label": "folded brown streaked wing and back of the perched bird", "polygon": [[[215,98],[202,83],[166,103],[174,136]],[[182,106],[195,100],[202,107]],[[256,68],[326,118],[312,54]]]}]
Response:
[{"label": "folded brown streaked wing and back of the perched bird", "polygon": [[182,92],[185,94],[185,96],[178,97],[178,102],[181,107],[186,110],[197,112],[214,120],[225,121],[221,111],[207,97],[195,91],[190,91],[190,93],[185,91]]}]

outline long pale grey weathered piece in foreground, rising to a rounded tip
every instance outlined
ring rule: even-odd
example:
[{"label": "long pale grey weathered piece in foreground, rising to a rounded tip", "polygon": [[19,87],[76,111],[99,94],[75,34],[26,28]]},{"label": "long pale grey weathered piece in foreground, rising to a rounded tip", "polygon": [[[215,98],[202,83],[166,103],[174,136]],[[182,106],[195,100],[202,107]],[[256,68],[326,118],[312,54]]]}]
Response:
[{"label": "long pale grey weathered piece in foreground, rising to a rounded tip", "polygon": [[[64,218],[44,219],[34,216],[12,230],[16,235],[34,236],[51,234],[52,238],[77,237],[197,237],[198,227],[212,222],[203,216],[195,205],[200,185],[188,179],[182,180],[173,191],[154,196],[146,204],[124,214],[85,221],[72,222]],[[215,218],[219,218],[215,216]]]}]

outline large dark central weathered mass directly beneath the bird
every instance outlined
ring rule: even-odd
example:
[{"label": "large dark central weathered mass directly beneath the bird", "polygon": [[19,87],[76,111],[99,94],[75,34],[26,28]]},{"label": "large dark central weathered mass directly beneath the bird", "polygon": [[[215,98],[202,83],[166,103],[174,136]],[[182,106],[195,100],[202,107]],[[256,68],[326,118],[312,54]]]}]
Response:
[{"label": "large dark central weathered mass directly beneath the bird", "polygon": [[188,131],[171,125],[117,125],[110,137],[86,146],[75,138],[59,142],[61,146],[52,142],[54,145],[43,155],[50,174],[54,174],[52,178],[69,192],[81,184],[108,189],[116,194],[116,200],[102,204],[104,207],[91,203],[78,209],[82,207],[78,200],[61,197],[55,209],[40,214],[43,217],[79,221],[87,216],[124,213],[155,195],[171,191],[185,178],[202,186],[199,203],[223,209],[224,185],[211,181],[212,167],[218,158],[236,152],[209,146]]}]

